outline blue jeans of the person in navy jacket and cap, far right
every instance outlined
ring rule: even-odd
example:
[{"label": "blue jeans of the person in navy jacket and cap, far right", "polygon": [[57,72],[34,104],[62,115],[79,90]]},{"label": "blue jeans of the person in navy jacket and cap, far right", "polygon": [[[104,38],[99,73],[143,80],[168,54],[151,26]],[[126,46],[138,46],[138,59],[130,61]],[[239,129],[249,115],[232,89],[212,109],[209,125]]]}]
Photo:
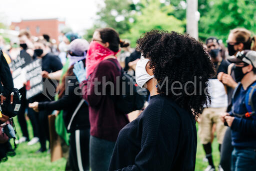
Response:
[{"label": "blue jeans of the person in navy jacket and cap, far right", "polygon": [[233,171],[255,171],[256,170],[256,149],[234,148],[232,152]]}]

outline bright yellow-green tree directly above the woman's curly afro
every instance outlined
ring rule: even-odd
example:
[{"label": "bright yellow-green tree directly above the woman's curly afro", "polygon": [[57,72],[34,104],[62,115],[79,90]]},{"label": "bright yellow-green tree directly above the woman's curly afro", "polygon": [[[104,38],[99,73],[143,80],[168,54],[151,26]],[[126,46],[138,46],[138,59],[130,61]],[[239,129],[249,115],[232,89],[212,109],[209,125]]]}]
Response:
[{"label": "bright yellow-green tree directly above the woman's curly afro", "polygon": [[184,32],[182,21],[167,14],[173,10],[171,5],[164,5],[158,0],[141,1],[143,8],[135,15],[135,21],[131,28],[121,37],[130,40],[131,46],[135,46],[136,39],[141,34],[152,29]]}]

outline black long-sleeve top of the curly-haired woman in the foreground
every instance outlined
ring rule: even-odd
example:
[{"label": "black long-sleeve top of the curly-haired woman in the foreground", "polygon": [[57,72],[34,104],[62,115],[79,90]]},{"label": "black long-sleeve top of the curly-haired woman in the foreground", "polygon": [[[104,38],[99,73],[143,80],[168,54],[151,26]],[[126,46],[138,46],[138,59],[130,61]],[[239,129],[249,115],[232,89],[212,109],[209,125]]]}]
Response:
[{"label": "black long-sleeve top of the curly-haired woman in the foreground", "polygon": [[119,133],[108,170],[194,170],[196,128],[192,113],[166,96],[149,105]]}]

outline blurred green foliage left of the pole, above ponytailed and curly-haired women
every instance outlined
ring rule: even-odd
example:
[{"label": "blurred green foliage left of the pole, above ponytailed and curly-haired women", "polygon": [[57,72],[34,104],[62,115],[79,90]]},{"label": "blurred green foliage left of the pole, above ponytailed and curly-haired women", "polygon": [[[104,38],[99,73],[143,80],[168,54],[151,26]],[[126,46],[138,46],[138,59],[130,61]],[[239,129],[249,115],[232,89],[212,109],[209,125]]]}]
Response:
[{"label": "blurred green foliage left of the pole, above ponytailed and curly-haired women", "polygon": [[97,28],[114,28],[122,39],[128,39],[135,46],[136,39],[142,33],[151,29],[184,32],[184,22],[169,15],[174,11],[172,5],[159,0],[133,1],[104,0],[104,6],[99,6],[93,28],[86,30],[85,39],[90,40]]}]

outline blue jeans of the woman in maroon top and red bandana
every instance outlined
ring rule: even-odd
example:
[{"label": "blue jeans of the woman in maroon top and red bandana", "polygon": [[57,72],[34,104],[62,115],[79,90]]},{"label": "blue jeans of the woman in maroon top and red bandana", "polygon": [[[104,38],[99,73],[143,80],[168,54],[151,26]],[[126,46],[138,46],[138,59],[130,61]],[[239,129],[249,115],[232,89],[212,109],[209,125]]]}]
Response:
[{"label": "blue jeans of the woman in maroon top and red bandana", "polygon": [[91,171],[106,171],[115,142],[90,136],[89,158]]}]

